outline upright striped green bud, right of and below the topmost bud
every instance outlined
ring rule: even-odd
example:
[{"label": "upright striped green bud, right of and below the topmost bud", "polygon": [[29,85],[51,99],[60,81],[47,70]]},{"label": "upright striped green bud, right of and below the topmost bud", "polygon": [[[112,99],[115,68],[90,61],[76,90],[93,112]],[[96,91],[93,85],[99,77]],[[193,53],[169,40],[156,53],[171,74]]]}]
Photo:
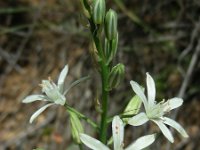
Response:
[{"label": "upright striped green bud, right of and below the topmost bud", "polygon": [[112,9],[106,13],[105,33],[108,40],[117,37],[117,13]]}]

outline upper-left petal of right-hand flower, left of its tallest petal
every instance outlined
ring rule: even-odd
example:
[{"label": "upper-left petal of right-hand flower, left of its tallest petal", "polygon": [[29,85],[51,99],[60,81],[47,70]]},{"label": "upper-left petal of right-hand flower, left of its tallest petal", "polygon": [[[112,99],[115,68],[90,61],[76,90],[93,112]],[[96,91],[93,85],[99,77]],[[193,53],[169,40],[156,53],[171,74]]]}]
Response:
[{"label": "upper-left petal of right-hand flower, left of its tallest petal", "polygon": [[144,95],[144,92],[142,91],[140,85],[135,81],[130,81],[130,84],[132,86],[133,91],[140,97],[140,99],[144,103],[145,109],[147,109],[147,106],[148,106],[147,105],[147,98]]}]

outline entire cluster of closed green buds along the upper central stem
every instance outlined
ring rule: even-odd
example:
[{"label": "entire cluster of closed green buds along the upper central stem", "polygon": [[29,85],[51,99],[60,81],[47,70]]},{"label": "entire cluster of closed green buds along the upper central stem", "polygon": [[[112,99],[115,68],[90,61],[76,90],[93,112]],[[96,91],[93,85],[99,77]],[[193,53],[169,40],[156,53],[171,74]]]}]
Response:
[{"label": "entire cluster of closed green buds along the upper central stem", "polygon": [[[94,34],[93,32],[104,32],[103,34],[99,34],[104,35],[104,42],[101,43],[102,49],[99,50],[97,48],[98,45],[94,41],[92,44],[93,50],[91,54],[95,62],[94,64],[98,64],[97,62],[104,60],[106,65],[111,65],[118,48],[117,13],[112,9],[106,12],[105,0],[81,0],[81,4],[83,10],[85,10],[84,12],[86,12],[85,16],[91,23],[90,25],[93,25],[93,28],[95,28],[92,34]],[[90,13],[90,15],[88,15],[88,13]],[[102,40],[101,38],[99,39]],[[116,88],[123,79],[124,65],[118,64],[110,70],[108,90]]]}]

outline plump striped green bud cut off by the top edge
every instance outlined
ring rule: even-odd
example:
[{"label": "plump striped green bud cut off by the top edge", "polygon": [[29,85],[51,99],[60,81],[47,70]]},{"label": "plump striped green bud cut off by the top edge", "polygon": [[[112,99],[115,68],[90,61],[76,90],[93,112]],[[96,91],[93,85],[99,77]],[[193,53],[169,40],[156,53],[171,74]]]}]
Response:
[{"label": "plump striped green bud cut off by the top edge", "polygon": [[93,21],[95,24],[102,24],[106,13],[105,0],[95,0],[93,7]]}]

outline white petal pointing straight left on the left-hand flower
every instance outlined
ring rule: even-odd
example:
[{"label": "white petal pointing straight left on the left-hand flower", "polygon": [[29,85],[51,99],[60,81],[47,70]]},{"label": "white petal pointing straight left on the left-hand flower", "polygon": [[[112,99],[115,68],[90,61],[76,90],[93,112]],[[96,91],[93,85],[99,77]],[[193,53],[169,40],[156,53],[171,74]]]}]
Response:
[{"label": "white petal pointing straight left on the left-hand flower", "polygon": [[32,103],[34,101],[50,101],[45,95],[30,95],[22,100],[23,103]]}]

